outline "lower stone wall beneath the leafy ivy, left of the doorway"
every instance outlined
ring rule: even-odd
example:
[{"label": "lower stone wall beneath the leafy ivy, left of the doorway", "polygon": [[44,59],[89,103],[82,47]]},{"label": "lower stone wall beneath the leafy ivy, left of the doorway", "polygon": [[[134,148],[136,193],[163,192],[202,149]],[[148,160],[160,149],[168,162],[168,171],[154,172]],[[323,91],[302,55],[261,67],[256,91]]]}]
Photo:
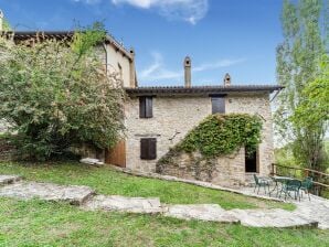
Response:
[{"label": "lower stone wall beneath the leafy ivy, left of the doorway", "polygon": [[198,152],[168,153],[157,163],[157,173],[199,180],[223,186],[245,185],[245,153],[240,151],[205,160]]}]

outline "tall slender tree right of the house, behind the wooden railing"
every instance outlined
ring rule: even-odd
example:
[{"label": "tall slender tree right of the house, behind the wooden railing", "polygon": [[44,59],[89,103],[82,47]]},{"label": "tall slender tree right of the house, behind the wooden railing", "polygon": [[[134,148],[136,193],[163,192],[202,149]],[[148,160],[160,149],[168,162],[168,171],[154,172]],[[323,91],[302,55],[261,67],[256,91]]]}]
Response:
[{"label": "tall slender tree right of the house, behind the wooden railing", "polygon": [[[285,86],[275,114],[277,133],[291,143],[295,160],[304,167],[320,169],[323,161],[326,119],[314,118],[309,125],[297,117],[311,96],[312,82],[321,78],[319,60],[325,54],[321,33],[321,0],[284,1],[282,24],[284,42],[277,47],[277,79]],[[326,26],[326,23],[325,23]],[[326,78],[325,78],[326,80]],[[305,108],[306,109],[306,108]],[[309,114],[314,110],[308,108]]]}]

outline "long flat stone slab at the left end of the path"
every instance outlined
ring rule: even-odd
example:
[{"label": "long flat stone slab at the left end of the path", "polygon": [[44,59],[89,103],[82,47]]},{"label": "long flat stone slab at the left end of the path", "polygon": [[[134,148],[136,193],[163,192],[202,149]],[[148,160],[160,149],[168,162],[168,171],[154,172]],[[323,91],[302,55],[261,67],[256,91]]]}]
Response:
[{"label": "long flat stone slab at the left end of the path", "polygon": [[95,192],[87,186],[56,185],[52,183],[15,183],[0,187],[0,196],[33,198],[46,201],[64,201],[74,205],[81,205]]}]

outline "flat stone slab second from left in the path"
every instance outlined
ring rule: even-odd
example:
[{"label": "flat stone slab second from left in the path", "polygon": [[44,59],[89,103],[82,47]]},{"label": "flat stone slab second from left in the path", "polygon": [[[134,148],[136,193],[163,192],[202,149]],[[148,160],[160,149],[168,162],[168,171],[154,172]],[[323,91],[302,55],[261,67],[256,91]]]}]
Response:
[{"label": "flat stone slab second from left in the path", "polygon": [[121,211],[129,213],[161,213],[159,198],[96,195],[84,204],[85,210]]}]

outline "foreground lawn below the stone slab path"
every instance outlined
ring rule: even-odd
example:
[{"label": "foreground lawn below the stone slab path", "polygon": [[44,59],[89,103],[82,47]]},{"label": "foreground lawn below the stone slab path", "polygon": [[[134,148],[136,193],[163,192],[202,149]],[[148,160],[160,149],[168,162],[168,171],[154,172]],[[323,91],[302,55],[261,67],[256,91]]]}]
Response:
[{"label": "foreground lawn below the stone slab path", "polygon": [[328,230],[252,228],[157,215],[85,212],[65,203],[0,198],[1,247],[328,245]]}]

